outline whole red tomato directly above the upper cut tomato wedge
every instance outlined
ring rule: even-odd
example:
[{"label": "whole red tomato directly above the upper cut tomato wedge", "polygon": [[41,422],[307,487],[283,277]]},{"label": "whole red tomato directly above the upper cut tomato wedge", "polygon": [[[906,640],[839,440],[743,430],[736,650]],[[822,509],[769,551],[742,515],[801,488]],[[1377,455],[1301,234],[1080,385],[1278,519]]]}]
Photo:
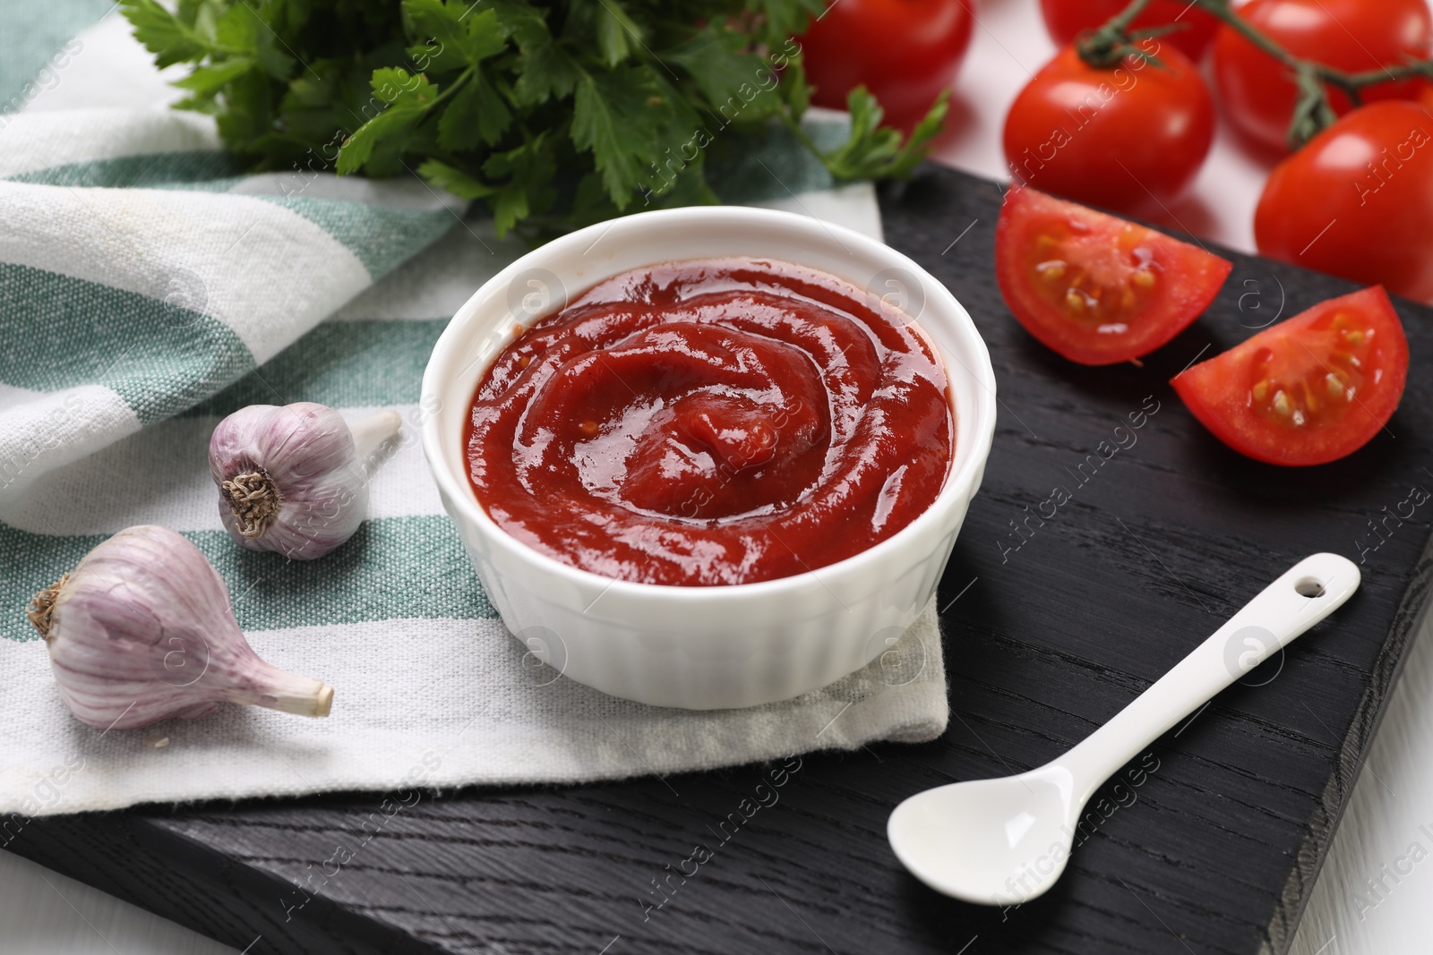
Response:
[{"label": "whole red tomato directly above the upper cut tomato wedge", "polygon": [[1214,142],[1214,102],[1189,57],[1144,44],[1162,66],[1101,69],[1065,47],[1035,74],[1005,119],[1016,179],[1135,216],[1179,198]]}]

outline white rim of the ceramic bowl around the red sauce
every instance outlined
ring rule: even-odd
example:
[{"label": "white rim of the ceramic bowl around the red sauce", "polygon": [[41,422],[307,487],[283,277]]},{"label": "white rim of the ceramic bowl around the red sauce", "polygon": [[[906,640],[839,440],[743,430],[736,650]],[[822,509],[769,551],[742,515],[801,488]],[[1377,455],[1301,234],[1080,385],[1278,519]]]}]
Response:
[{"label": "white rim of the ceramic bowl around the red sauce", "polygon": [[[576,232],[569,232],[567,235],[559,236],[536,249],[526,252],[516,261],[510,262],[496,275],[483,282],[471,296],[454,312],[453,318],[449,321],[443,334],[438,336],[437,342],[433,345],[433,352],[428,357],[428,362],[423,371],[423,387],[420,398],[420,409],[426,409],[430,401],[438,394],[441,384],[437,382],[440,374],[446,374],[450,369],[446,367],[450,361],[453,352],[456,352],[461,344],[464,344],[470,336],[476,334],[492,334],[492,325],[484,326],[480,331],[474,329],[474,324],[479,319],[479,301],[484,296],[484,291],[492,286],[509,285],[517,275],[527,272],[535,268],[549,269],[550,259],[556,258],[573,248],[588,248],[593,243],[595,238],[602,238],[608,232],[623,228],[623,232],[631,233],[632,231],[643,231],[649,226],[658,226],[668,223],[674,219],[691,219],[694,225],[699,225],[702,220],[725,220],[725,222],[745,222],[751,226],[761,228],[762,225],[795,228],[798,231],[805,231],[808,235],[815,236],[815,232],[825,233],[825,238],[834,239],[843,246],[850,246],[853,251],[853,258],[864,256],[873,263],[878,263],[877,271],[888,268],[904,268],[913,272],[919,279],[930,286],[926,295],[926,309],[930,308],[931,298],[944,298],[944,305],[947,312],[954,319],[953,328],[956,334],[964,339],[964,345],[973,351],[976,358],[974,368],[967,367],[966,362],[953,358],[947,349],[941,348],[939,341],[930,332],[920,326],[920,319],[911,319],[916,324],[917,331],[930,342],[936,351],[937,359],[946,368],[947,379],[950,377],[952,362],[959,367],[966,375],[972,377],[976,384],[976,407],[970,409],[973,414],[962,415],[962,407],[954,402],[954,395],[947,387],[946,401],[956,415],[957,422],[963,427],[957,428],[956,445],[960,445],[962,434],[969,434],[966,438],[970,442],[972,454],[966,457],[957,467],[952,467],[946,480],[941,484],[940,493],[936,500],[921,511],[914,520],[906,524],[903,528],[891,534],[883,541],[876,543],[866,550],[857,551],[850,557],[844,557],[831,564],[823,564],[807,570],[800,574],[790,574],[787,577],[775,577],[771,580],[758,580],[751,583],[739,584],[652,584],[641,583],[633,580],[623,580],[619,577],[608,577],[596,571],[583,570],[580,567],[573,567],[566,564],[556,557],[543,554],[542,551],[530,547],[522,540],[513,537],[504,531],[492,517],[489,517],[487,510],[483,507],[481,501],[477,500],[477,493],[473,490],[471,481],[467,480],[466,474],[454,474],[454,471],[447,467],[443,442],[447,440],[441,434],[443,414],[441,408],[434,412],[426,412],[423,417],[421,428],[421,442],[424,450],[424,457],[428,461],[428,470],[433,472],[434,481],[438,488],[444,493],[444,497],[457,507],[463,515],[470,520],[483,534],[484,538],[493,540],[504,547],[507,551],[519,556],[522,560],[529,561],[537,570],[547,574],[556,574],[566,581],[579,586],[582,588],[600,588],[602,597],[608,596],[626,596],[633,598],[668,598],[668,600],[711,600],[711,598],[761,598],[771,594],[780,594],[782,591],[797,590],[800,587],[808,586],[810,580],[814,578],[823,587],[830,590],[825,581],[821,580],[823,576],[845,576],[858,573],[864,566],[880,563],[891,554],[900,553],[900,550],[910,543],[913,538],[927,533],[933,524],[936,524],[941,514],[962,504],[963,497],[969,493],[973,494],[980,474],[983,472],[986,460],[989,457],[990,444],[995,437],[995,422],[996,422],[996,381],[995,369],[990,364],[990,352],[976,328],[974,321],[970,314],[960,304],[960,301],[946,288],[943,282],[936,279],[930,272],[916,263],[910,256],[893,249],[891,246],[873,239],[861,232],[850,229],[847,226],[825,222],[817,219],[811,215],[798,215],[794,212],[785,212],[780,209],[764,209],[757,206],[685,206],[678,209],[653,209],[646,212],[638,212],[629,216],[622,216],[619,219],[612,219],[606,222],[598,222],[590,226],[577,229]],[[631,238],[631,236],[625,236]],[[662,258],[659,253],[653,255],[652,265],[659,265],[662,262],[675,262],[702,256],[681,256],[681,258]],[[722,258],[721,255],[712,255],[711,258]],[[780,256],[759,256],[768,259],[778,259]],[[800,265],[800,263],[797,263]],[[636,266],[641,268],[641,266]],[[801,268],[820,268],[807,266]],[[556,269],[552,269],[557,273]],[[626,271],[626,269],[623,269]],[[828,271],[828,269],[820,269]],[[600,272],[600,269],[599,269]],[[619,272],[612,272],[610,275],[598,275],[592,278],[583,278],[582,282],[575,282],[583,291],[598,285],[599,282],[618,275]],[[835,275],[834,272],[831,272]],[[566,281],[570,276],[559,278]],[[856,285],[841,275],[835,275],[837,279]],[[575,296],[570,296],[575,298]],[[569,301],[570,301],[569,298]],[[546,316],[543,316],[546,318]],[[542,321],[542,319],[537,319]],[[481,362],[481,369],[479,375],[486,372],[487,367],[500,349],[496,351],[487,361]],[[466,452],[461,458],[466,461]],[[954,457],[954,454],[953,454]],[[967,503],[967,501],[966,501]],[[456,515],[454,515],[456,517]],[[818,576],[818,571],[821,576]]]}]

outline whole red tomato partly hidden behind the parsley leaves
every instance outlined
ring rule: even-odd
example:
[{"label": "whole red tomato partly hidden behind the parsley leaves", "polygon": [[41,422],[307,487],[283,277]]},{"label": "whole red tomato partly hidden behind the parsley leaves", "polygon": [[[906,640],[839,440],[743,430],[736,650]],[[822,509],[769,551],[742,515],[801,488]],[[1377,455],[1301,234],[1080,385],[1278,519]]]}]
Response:
[{"label": "whole red tomato partly hidden behind the parsley leaves", "polygon": [[835,0],[800,39],[817,106],[866,84],[891,126],[911,127],[956,79],[974,0]]}]

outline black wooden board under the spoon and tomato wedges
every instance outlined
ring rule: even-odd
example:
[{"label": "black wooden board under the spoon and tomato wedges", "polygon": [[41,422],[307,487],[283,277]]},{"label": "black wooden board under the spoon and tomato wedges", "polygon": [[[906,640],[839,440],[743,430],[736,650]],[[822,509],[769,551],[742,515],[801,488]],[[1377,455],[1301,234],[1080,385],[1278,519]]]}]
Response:
[{"label": "black wooden board under the spoon and tomato wedges", "polygon": [[[940,586],[941,739],[807,755],[685,881],[694,843],[770,767],[471,789],[391,818],[373,793],[139,808],[34,820],[9,848],[254,955],[1285,951],[1424,607],[1433,507],[1387,515],[1433,488],[1433,309],[1397,304],[1413,369],[1387,431],[1331,465],[1274,468],[1224,448],[1166,382],[1351,285],[1225,252],[1234,275],[1189,331],[1142,368],[1080,368],[1000,301],[999,186],[927,168],[881,203],[888,242],[974,315],[999,381],[984,485]],[[1139,411],[1138,441],[1082,481]],[[1007,550],[1053,487],[1069,503]],[[891,856],[904,796],[1055,757],[1318,550],[1361,561],[1361,590],[1106,785],[1049,895],[970,906]],[[671,895],[648,909],[656,882]]]}]

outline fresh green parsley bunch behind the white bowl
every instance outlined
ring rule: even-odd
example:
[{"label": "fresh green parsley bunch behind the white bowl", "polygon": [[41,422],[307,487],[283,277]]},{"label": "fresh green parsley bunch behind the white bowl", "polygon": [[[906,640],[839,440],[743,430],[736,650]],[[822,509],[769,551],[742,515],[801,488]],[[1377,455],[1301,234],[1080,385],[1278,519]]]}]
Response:
[{"label": "fresh green parsley bunch behind the white bowl", "polygon": [[158,66],[195,64],[178,106],[215,115],[246,166],[417,173],[486,202],[499,233],[716,202],[708,153],[771,123],[840,180],[904,176],[944,116],[941,100],[903,143],[858,89],[851,139],[818,150],[792,37],[823,0],[122,6]]}]

